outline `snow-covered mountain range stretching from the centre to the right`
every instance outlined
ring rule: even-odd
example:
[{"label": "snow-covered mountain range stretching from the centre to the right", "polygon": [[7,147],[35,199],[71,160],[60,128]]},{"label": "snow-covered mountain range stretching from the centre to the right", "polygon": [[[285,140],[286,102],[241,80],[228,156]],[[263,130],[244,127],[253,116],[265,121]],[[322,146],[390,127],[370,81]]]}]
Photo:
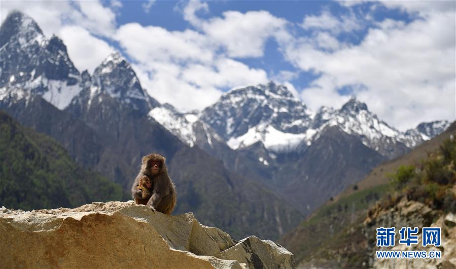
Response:
[{"label": "snow-covered mountain range stretching from the centre to the right", "polygon": [[[176,110],[156,108],[150,116],[182,141],[194,144],[191,122]],[[192,114],[192,122],[207,124],[232,149],[261,142],[271,152],[302,151],[326,127],[338,126],[389,158],[435,137],[449,125],[447,121],[422,123],[416,129],[401,132],[380,120],[355,97],[338,110],[322,107],[312,114],[285,86],[273,82],[234,88],[205,108],[197,120],[195,117]]]}]

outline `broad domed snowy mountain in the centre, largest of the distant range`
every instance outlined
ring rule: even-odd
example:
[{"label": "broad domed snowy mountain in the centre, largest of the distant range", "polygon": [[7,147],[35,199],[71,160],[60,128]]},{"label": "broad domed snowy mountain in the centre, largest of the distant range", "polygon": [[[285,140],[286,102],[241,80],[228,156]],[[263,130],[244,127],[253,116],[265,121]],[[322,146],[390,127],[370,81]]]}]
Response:
[{"label": "broad domed snowy mountain in the centre, largest of the distant range", "polygon": [[200,115],[233,149],[257,141],[273,150],[292,148],[303,139],[311,118],[287,87],[273,82],[234,88]]}]

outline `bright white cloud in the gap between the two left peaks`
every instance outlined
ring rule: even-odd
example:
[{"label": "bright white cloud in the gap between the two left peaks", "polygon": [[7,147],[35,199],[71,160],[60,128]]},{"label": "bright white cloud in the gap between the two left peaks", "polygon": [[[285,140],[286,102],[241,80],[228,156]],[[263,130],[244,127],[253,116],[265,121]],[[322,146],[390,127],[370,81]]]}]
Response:
[{"label": "bright white cloud in the gap between the two left peaks", "polygon": [[68,55],[80,71],[88,69],[92,74],[95,68],[112,52],[108,43],[93,37],[88,30],[80,26],[64,26],[58,32],[64,40]]}]

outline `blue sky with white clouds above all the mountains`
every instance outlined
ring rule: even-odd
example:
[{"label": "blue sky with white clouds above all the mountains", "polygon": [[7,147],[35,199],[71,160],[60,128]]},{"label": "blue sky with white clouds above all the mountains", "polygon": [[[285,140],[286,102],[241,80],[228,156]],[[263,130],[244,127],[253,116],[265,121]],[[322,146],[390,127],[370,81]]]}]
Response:
[{"label": "blue sky with white clouds above all the mountains", "polygon": [[453,1],[2,1],[2,21],[13,9],[80,71],[121,52],[182,111],[274,80],[312,111],[356,95],[400,130],[455,118]]}]

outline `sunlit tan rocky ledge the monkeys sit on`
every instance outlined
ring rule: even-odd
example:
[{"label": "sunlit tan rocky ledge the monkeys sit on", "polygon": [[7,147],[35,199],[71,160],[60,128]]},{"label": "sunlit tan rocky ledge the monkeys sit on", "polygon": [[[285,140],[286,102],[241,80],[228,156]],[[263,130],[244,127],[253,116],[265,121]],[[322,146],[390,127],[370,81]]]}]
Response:
[{"label": "sunlit tan rocky ledge the monkeys sit on", "polygon": [[0,210],[2,267],[294,268],[282,246],[255,236],[239,242],[192,213],[151,212],[133,201],[75,209]]}]

